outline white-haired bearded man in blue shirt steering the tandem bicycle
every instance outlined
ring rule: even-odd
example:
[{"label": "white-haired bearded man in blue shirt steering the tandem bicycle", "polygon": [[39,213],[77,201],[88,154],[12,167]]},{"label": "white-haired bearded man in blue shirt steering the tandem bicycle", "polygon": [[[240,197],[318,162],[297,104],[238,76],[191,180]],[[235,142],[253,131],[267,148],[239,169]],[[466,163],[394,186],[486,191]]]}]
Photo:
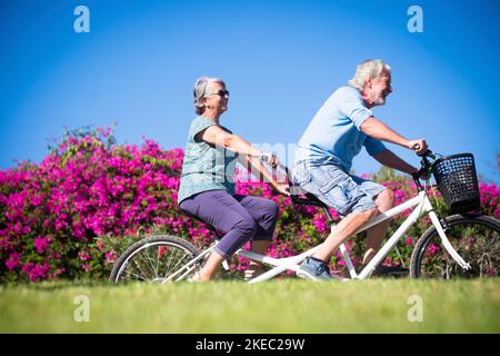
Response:
[{"label": "white-haired bearded man in blue shirt steering the tandem bicycle", "polygon": [[[381,141],[422,154],[427,149],[426,140],[406,139],[376,119],[370,110],[384,105],[391,92],[391,68],[381,60],[367,60],[358,66],[348,86],[331,95],[302,135],[292,170],[294,179],[300,188],[333,207],[343,219],[320,249],[302,263],[299,277],[333,279],[328,267],[331,254],[360,226],[392,207],[392,190],[349,175],[352,159],[362,146],[384,166],[407,174],[417,170]],[[367,231],[363,265],[377,254],[388,228],[389,221]],[[390,271],[393,271],[390,267],[379,266],[374,274]]]}]

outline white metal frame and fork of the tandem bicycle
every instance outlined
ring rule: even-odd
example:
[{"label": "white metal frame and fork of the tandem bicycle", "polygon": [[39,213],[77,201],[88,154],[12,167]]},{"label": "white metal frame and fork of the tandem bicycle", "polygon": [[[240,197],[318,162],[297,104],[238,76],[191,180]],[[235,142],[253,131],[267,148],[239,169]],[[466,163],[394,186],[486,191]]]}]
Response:
[{"label": "white metal frame and fork of the tandem bicycle", "polygon": [[[369,229],[372,226],[376,226],[382,221],[386,221],[393,216],[409,209],[416,207],[413,211],[408,216],[408,218],[401,224],[401,226],[394,231],[394,234],[389,238],[389,240],[382,246],[382,248],[377,253],[377,255],[370,260],[370,263],[361,270],[360,274],[356,273],[354,266],[352,265],[352,260],[349,256],[349,251],[346,248],[344,244],[340,245],[340,251],[342,254],[342,258],[346,261],[346,265],[349,269],[349,275],[351,279],[366,279],[370,277],[373,269],[382,261],[383,258],[389,254],[389,251],[398,244],[398,241],[403,237],[404,233],[408,231],[408,229],[417,222],[417,220],[424,214],[428,214],[432,225],[436,227],[440,238],[441,243],[443,244],[446,250],[450,256],[462,267],[463,269],[470,269],[470,265],[466,263],[462,257],[456,251],[453,246],[451,246],[450,241],[448,240],[444,230],[441,226],[441,222],[439,221],[438,216],[432,209],[432,205],[426,194],[424,190],[419,191],[419,195],[414,198],[411,198],[410,200],[407,200],[402,204],[400,204],[397,207],[393,207],[392,209],[378,215],[372,221],[363,225],[360,227],[353,235],[361,233],[363,230]],[[334,226],[332,226],[330,236],[334,233]],[[329,237],[330,237],[329,236]],[[197,268],[197,263],[200,260],[203,260],[207,258],[213,248],[217,246],[217,243],[210,246],[208,249],[203,250],[200,255],[198,255],[194,259],[190,260],[188,264],[182,266],[178,271],[170,275],[168,278],[166,278],[162,283],[167,283],[170,280],[180,280],[184,278],[189,273],[191,273],[194,268]],[[263,264],[274,266],[274,268],[266,271],[264,274],[251,279],[249,283],[259,283],[263,280],[268,280],[286,270],[292,270],[297,271],[300,268],[300,263],[302,263],[307,257],[312,256],[319,248],[321,244],[300,254],[292,257],[286,257],[286,258],[272,258],[266,255],[256,254],[253,251],[239,249],[236,254],[239,256],[247,257],[252,260],[258,260]],[[224,268],[228,269],[227,263],[224,263]]]}]

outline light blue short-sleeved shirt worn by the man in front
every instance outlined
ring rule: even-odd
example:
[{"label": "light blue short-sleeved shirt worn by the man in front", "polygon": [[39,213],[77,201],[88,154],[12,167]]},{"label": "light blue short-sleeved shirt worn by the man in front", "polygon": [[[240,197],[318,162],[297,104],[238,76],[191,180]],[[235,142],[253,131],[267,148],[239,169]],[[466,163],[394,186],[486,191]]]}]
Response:
[{"label": "light blue short-sleeved shirt worn by the man in front", "polygon": [[370,156],[386,146],[367,136],[361,123],[373,116],[364,107],[361,95],[353,87],[341,87],[333,92],[317,112],[299,140],[296,161],[316,160],[333,156],[344,171],[349,171],[352,159],[364,146]]}]

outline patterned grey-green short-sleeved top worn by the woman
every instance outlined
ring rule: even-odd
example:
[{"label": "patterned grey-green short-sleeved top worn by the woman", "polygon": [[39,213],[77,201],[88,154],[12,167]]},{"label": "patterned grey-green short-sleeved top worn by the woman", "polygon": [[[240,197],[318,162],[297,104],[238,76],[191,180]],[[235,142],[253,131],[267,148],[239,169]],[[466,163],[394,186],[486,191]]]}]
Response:
[{"label": "patterned grey-green short-sleeved top worn by the woman", "polygon": [[[233,176],[238,155],[197,138],[197,134],[214,125],[217,123],[213,120],[203,116],[197,116],[191,122],[182,162],[178,204],[186,198],[208,190],[222,189],[234,195]],[[220,128],[232,134],[223,126],[220,126]]]}]

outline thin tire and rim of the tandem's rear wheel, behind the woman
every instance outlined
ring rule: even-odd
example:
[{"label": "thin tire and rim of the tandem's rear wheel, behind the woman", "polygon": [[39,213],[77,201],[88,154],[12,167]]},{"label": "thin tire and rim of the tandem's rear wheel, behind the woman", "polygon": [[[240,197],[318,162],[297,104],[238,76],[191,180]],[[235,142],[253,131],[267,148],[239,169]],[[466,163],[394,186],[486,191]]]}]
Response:
[{"label": "thin tire and rim of the tandem's rear wheel, behind the woman", "polygon": [[[168,257],[164,257],[166,249],[168,249],[169,253],[173,251],[174,249],[178,249],[179,254],[183,254],[183,257],[180,259],[180,261],[182,261],[182,264],[179,267],[186,265],[189,260],[196,258],[200,254],[200,250],[197,247],[194,247],[192,244],[186,241],[184,239],[176,237],[176,236],[159,235],[159,236],[147,237],[147,238],[143,238],[143,239],[134,243],[133,245],[128,247],[123,251],[123,254],[121,254],[121,256],[114,263],[113,269],[111,270],[111,274],[109,277],[109,281],[114,283],[114,284],[126,281],[126,280],[162,283],[167,278],[167,274],[169,274],[169,275],[173,274],[176,270],[170,270],[170,271],[167,270],[167,273],[162,277],[160,277],[158,266],[157,266],[157,269],[153,270],[154,266],[152,266],[152,264],[151,264],[150,255],[148,251],[149,247],[153,247],[153,248],[158,247],[158,251],[157,251],[158,265],[160,264],[159,258],[161,258],[162,261],[163,261],[163,259],[164,260],[169,259]],[[134,261],[133,258],[140,257],[141,251],[146,251],[146,254],[148,255],[148,260],[149,260],[149,263],[143,265],[144,269],[147,269],[149,271],[153,271],[153,273],[156,271],[154,278],[147,278],[147,274],[144,273],[144,269],[142,269],[140,267],[140,265],[138,265],[139,263],[137,263],[137,260],[136,260],[134,265],[136,265],[136,267],[139,267],[142,276],[129,273],[129,275],[136,275],[136,277],[139,277],[139,278],[122,278],[123,274],[127,271],[127,268],[132,265],[132,261]],[[160,255],[161,255],[161,257],[160,257]],[[171,264],[171,260],[169,261],[169,266],[170,266],[170,264]],[[148,268],[146,268],[146,266],[148,266]],[[174,265],[174,267],[176,267],[176,265]],[[201,263],[197,264],[197,267],[201,268]]]}]

